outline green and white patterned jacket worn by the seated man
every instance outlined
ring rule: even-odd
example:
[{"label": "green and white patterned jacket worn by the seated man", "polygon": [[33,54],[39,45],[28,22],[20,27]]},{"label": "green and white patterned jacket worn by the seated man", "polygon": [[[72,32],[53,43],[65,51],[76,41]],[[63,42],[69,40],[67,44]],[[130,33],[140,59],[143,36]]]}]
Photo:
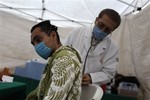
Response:
[{"label": "green and white patterned jacket worn by the seated man", "polygon": [[27,100],[79,100],[81,78],[78,52],[62,46],[49,58],[37,89],[28,95]]}]

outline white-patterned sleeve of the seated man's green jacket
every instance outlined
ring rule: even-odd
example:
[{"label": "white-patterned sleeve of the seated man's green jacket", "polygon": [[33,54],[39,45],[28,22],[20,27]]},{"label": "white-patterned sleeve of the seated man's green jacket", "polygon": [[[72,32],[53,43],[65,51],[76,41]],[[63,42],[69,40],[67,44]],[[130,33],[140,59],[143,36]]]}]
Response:
[{"label": "white-patterned sleeve of the seated man's green jacket", "polygon": [[[65,55],[64,55],[65,53]],[[43,100],[79,100],[81,94],[81,66],[70,51],[62,52],[52,62],[52,81]]]}]

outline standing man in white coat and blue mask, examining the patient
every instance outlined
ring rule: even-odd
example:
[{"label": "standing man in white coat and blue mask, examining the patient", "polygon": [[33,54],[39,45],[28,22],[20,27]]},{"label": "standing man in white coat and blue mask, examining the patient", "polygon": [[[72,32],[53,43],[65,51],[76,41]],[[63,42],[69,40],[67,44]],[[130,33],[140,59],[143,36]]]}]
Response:
[{"label": "standing man in white coat and blue mask, examining the patient", "polygon": [[114,77],[118,64],[118,48],[110,35],[120,25],[120,15],[112,9],[104,9],[95,25],[77,28],[70,33],[66,45],[79,50],[82,57],[82,85],[106,84]]}]

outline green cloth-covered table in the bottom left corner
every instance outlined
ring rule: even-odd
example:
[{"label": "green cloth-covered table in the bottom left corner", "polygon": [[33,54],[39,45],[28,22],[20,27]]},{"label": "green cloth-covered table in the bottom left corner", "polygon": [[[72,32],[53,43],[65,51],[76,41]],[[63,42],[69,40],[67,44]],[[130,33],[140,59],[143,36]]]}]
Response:
[{"label": "green cloth-covered table in the bottom left corner", "polygon": [[22,82],[0,82],[0,100],[24,100],[26,84]]}]

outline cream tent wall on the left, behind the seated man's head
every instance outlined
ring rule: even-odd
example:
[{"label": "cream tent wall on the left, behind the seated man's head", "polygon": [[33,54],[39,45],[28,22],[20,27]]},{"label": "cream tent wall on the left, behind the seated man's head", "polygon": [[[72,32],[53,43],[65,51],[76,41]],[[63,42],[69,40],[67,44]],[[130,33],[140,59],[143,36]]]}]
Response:
[{"label": "cream tent wall on the left, behind the seated man's head", "polygon": [[[27,60],[41,59],[30,43],[30,29],[36,22],[8,12],[0,11],[0,69],[9,67],[11,71],[17,66],[24,66]],[[63,42],[70,27],[59,27]]]}]

